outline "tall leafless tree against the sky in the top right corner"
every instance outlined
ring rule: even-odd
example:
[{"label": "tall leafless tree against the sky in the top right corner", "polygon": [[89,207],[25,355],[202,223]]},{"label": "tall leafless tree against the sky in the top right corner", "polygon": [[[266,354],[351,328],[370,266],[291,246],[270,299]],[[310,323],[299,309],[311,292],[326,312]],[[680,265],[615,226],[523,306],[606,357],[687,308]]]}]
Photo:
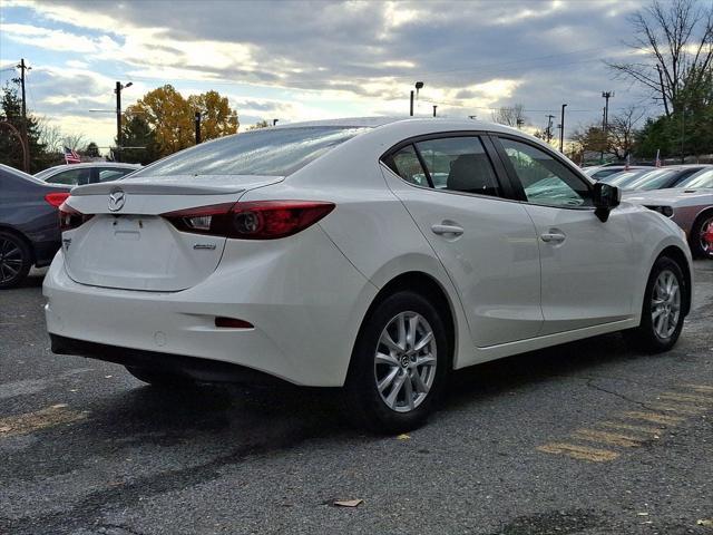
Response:
[{"label": "tall leafless tree against the sky in the top right corner", "polygon": [[631,22],[634,39],[627,45],[648,61],[606,64],[618,76],[648,88],[671,116],[682,105],[678,95],[695,91],[713,68],[713,3],[654,0]]}]

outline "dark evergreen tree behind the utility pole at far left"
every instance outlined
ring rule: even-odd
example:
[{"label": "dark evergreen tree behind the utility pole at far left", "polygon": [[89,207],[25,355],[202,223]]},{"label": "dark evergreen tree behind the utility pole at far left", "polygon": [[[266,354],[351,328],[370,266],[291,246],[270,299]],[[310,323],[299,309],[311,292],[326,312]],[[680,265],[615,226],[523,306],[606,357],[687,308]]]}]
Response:
[{"label": "dark evergreen tree behind the utility pole at far left", "polygon": [[[18,132],[22,132],[22,104],[18,90],[10,82],[2,88],[0,98],[0,121],[7,121]],[[32,114],[27,114],[27,142],[30,149],[30,173],[37,173],[45,167],[45,145],[40,143],[38,120]],[[22,145],[8,127],[0,126],[0,163],[23,168]]]}]

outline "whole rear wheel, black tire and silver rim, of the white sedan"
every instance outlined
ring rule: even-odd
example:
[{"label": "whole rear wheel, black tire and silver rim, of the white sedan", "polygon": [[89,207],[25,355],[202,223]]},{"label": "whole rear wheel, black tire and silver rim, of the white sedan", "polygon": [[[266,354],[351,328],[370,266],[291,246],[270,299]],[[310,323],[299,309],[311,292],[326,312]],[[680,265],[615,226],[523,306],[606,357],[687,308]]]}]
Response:
[{"label": "whole rear wheel, black tire and silver rim, of the white sedan", "polygon": [[382,434],[421,426],[448,376],[448,346],[441,314],[424,296],[399,291],[385,298],[354,346],[345,382],[350,417]]}]

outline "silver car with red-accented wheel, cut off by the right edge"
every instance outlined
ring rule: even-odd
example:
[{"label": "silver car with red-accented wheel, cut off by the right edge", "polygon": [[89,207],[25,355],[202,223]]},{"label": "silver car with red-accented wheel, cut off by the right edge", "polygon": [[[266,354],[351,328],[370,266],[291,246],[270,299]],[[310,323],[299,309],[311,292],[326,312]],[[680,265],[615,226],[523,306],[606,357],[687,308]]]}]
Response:
[{"label": "silver car with red-accented wheel, cut off by the right edge", "polygon": [[629,192],[641,204],[674,221],[688,236],[694,256],[713,259],[713,168],[705,168],[671,189]]}]

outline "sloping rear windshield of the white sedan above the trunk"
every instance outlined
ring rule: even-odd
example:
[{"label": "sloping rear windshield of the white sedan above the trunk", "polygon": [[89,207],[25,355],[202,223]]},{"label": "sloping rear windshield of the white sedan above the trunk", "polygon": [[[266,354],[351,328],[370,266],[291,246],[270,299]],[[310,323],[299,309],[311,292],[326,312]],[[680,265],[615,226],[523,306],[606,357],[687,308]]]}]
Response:
[{"label": "sloping rear windshield of the white sedan above the trunk", "polygon": [[131,178],[176,175],[286,176],[368,129],[335,126],[261,128],[187,148],[143,168]]}]

